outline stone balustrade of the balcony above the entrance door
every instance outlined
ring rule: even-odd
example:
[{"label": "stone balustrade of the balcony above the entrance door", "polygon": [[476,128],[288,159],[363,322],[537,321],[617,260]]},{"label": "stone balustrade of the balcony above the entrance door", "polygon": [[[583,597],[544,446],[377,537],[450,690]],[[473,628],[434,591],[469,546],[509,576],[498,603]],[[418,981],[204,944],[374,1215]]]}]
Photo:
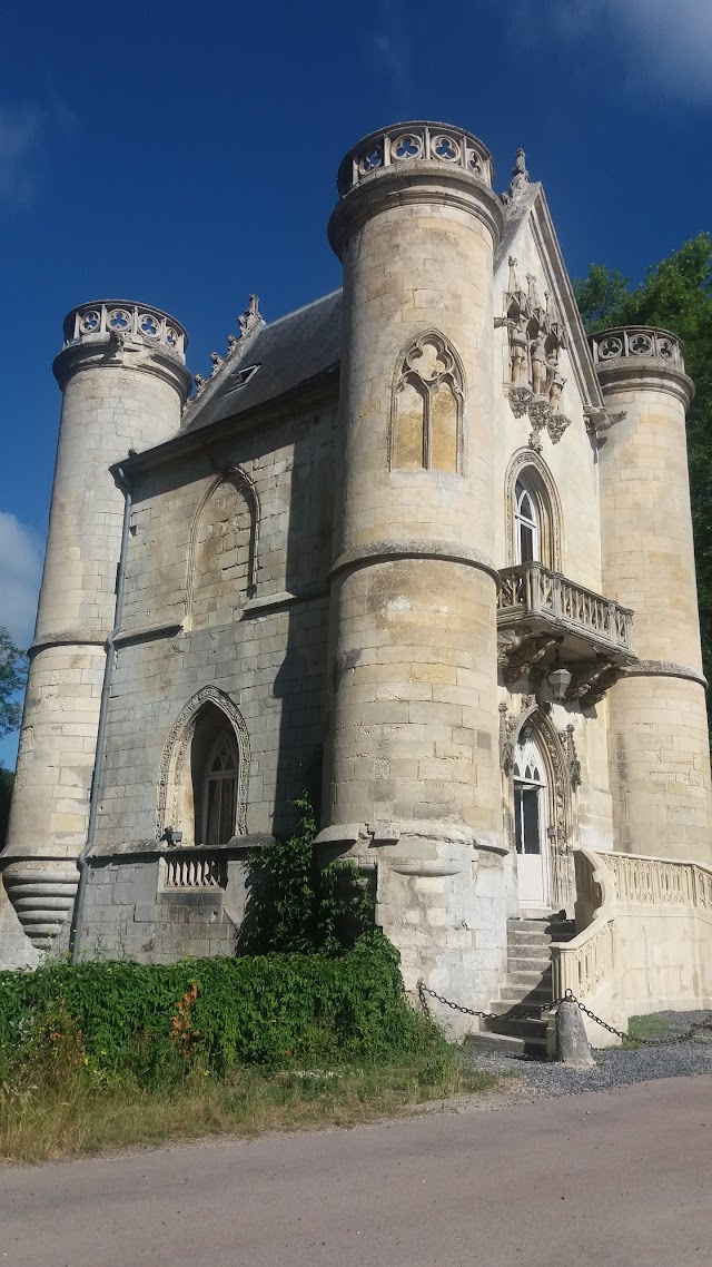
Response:
[{"label": "stone balustrade of the balcony above the entrance door", "polygon": [[499,626],[526,617],[544,617],[595,644],[632,654],[633,613],[627,607],[576,585],[540,563],[504,568],[499,575]]}]

